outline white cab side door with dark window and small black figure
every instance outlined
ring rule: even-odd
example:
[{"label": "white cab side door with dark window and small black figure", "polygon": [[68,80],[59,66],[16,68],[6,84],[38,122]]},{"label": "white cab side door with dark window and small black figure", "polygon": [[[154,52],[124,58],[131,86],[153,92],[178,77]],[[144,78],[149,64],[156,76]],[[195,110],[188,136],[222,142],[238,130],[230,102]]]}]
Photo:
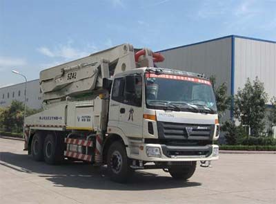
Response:
[{"label": "white cab side door with dark window and small black figure", "polygon": [[118,127],[128,137],[142,137],[142,77],[139,74],[124,77],[124,93],[120,103]]}]

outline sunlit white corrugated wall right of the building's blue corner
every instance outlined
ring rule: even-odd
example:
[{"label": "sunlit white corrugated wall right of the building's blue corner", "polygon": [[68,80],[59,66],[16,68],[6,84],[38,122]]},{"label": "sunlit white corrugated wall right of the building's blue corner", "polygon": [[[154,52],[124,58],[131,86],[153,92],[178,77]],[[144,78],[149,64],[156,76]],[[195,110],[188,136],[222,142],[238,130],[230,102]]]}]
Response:
[{"label": "sunlit white corrugated wall right of the building's blue corner", "polygon": [[235,93],[246,79],[264,82],[269,97],[276,96],[276,44],[235,37]]}]

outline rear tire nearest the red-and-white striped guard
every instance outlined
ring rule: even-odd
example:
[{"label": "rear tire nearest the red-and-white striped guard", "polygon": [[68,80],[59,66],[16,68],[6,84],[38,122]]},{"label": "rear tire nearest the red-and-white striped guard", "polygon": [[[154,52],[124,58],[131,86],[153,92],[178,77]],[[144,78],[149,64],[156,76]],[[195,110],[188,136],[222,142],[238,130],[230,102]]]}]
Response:
[{"label": "rear tire nearest the red-and-white striped guard", "polygon": [[60,136],[48,133],[44,141],[44,160],[48,165],[59,165],[63,160],[63,143]]}]

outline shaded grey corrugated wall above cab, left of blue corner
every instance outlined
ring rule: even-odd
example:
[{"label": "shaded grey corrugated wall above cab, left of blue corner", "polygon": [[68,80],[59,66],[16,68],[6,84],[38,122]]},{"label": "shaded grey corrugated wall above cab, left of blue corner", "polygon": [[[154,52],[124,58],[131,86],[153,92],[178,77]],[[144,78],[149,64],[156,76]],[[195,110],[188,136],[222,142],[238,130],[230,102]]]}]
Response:
[{"label": "shaded grey corrugated wall above cab, left of blue corner", "polygon": [[206,41],[200,44],[164,50],[165,61],[157,64],[194,73],[216,75],[217,84],[226,82],[231,87],[231,37]]}]

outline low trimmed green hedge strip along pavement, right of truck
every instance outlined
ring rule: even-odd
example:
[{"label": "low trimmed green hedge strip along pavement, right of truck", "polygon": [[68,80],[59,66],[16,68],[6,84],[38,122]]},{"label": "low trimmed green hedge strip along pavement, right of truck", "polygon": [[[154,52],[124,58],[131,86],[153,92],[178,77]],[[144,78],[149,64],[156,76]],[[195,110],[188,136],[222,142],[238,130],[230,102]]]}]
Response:
[{"label": "low trimmed green hedge strip along pavement, right of truck", "polygon": [[276,151],[276,146],[268,145],[220,145],[219,149],[221,150],[244,150],[244,151]]}]

